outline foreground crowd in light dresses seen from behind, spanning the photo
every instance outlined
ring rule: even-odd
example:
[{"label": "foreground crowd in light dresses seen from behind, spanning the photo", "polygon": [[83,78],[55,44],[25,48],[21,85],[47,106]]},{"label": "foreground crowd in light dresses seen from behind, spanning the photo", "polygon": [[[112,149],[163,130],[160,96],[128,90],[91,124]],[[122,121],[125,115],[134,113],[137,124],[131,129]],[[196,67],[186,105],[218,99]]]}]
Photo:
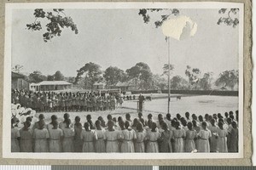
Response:
[{"label": "foreground crowd in light dresses seen from behind, spanning the photo", "polygon": [[108,115],[106,122],[99,116],[95,122],[90,115],[86,122],[80,117],[70,119],[64,114],[64,121],[51,116],[45,124],[44,114],[32,122],[27,116],[18,128],[19,119],[11,120],[12,152],[238,152],[238,111],[205,116],[159,114],[153,119],[142,112],[131,120]]}]

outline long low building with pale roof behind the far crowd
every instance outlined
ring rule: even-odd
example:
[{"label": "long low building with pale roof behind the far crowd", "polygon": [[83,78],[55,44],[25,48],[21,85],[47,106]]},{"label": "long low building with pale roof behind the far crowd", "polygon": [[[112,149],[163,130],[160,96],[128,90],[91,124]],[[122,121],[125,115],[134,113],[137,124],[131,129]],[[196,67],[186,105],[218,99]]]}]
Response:
[{"label": "long low building with pale roof behind the far crowd", "polygon": [[31,83],[29,89],[33,92],[65,90],[72,88],[72,85],[72,83],[66,81],[43,81],[39,83]]}]

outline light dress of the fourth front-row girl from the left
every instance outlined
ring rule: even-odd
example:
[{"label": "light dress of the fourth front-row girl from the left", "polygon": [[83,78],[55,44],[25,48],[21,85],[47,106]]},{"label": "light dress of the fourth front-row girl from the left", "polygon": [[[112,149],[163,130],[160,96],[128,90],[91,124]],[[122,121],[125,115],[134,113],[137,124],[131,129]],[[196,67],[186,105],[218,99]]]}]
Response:
[{"label": "light dress of the fourth front-row girl from the left", "polygon": [[63,131],[61,128],[49,128],[49,152],[61,152],[61,137]]}]

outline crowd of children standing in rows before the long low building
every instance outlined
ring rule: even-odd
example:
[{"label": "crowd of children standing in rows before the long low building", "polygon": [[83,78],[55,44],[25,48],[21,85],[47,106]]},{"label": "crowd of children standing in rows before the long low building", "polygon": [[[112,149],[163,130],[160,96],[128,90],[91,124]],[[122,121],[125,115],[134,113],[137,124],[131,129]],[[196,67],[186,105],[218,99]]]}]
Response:
[{"label": "crowd of children standing in rows before the long low building", "polygon": [[115,110],[116,106],[122,105],[123,102],[124,95],[122,93],[55,93],[12,90],[13,104],[32,108],[37,112],[107,111]]}]

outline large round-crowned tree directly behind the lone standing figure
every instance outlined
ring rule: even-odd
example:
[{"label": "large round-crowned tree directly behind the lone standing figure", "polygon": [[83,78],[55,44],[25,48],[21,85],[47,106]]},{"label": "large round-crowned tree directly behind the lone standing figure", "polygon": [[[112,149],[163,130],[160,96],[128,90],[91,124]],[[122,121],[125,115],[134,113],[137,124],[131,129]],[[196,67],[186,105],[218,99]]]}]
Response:
[{"label": "large round-crowned tree directly behind the lone standing figure", "polygon": [[128,78],[134,79],[139,88],[148,89],[150,87],[149,82],[152,81],[152,72],[147,64],[140,62],[126,70]]}]

